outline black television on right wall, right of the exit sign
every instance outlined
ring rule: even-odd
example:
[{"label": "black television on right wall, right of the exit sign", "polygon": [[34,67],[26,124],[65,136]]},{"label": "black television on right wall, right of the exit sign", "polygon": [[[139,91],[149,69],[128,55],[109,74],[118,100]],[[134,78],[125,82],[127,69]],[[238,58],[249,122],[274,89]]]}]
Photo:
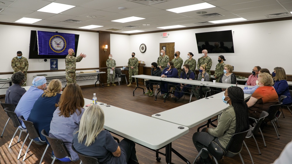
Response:
[{"label": "black television on right wall, right of the exit sign", "polygon": [[214,31],[196,33],[198,53],[234,53],[232,31]]}]

